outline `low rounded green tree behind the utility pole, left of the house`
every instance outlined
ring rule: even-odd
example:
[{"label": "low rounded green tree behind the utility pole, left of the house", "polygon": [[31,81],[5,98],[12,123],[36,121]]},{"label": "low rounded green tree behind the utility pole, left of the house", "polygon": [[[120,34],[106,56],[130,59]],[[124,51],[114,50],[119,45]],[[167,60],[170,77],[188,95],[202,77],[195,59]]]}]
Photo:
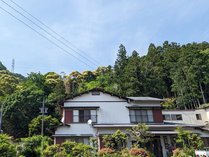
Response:
[{"label": "low rounded green tree behind the utility pole, left of the house", "polygon": [[[42,116],[34,118],[29,124],[29,136],[41,134]],[[44,116],[44,135],[51,136],[54,134],[55,127],[60,124],[57,118],[52,116]]]}]

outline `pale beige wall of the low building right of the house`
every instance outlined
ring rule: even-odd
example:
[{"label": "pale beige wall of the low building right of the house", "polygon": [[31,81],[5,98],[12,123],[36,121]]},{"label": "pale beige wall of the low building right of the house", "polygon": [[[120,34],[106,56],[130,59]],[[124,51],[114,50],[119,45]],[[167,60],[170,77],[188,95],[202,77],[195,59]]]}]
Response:
[{"label": "pale beige wall of the low building right of the house", "polygon": [[[162,114],[181,114],[182,120],[164,120],[164,122],[173,122],[173,123],[181,123],[181,124],[198,124],[205,125],[206,121],[208,121],[207,113],[205,109],[198,110],[163,110]],[[200,114],[202,120],[197,120],[196,114]]]}]

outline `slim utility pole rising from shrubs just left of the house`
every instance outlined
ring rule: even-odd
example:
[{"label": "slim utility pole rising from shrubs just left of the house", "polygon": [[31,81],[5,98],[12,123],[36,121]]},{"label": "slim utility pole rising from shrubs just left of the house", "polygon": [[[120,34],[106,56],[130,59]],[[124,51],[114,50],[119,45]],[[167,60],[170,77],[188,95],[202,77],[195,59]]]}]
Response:
[{"label": "slim utility pole rising from shrubs just left of the house", "polygon": [[44,115],[45,113],[47,113],[48,108],[45,107],[45,100],[43,98],[43,103],[42,103],[42,107],[39,108],[41,110],[41,114],[42,114],[42,122],[41,122],[41,136],[42,136],[42,140],[41,140],[41,154],[43,155],[43,144],[44,144]]}]

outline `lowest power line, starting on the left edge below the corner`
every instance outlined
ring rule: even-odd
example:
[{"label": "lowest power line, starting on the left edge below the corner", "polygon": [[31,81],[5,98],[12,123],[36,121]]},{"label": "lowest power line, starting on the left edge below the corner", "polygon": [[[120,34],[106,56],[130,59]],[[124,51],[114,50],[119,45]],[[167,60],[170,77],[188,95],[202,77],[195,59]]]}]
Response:
[{"label": "lowest power line, starting on the left edge below the corner", "polygon": [[50,43],[52,43],[53,45],[57,46],[58,48],[60,48],[61,50],[63,50],[66,54],[69,54],[71,56],[73,56],[74,58],[76,58],[77,60],[79,60],[80,62],[82,62],[83,64],[87,65],[88,67],[94,69],[92,66],[90,66],[89,64],[87,64],[86,62],[80,60],[78,57],[76,57],[75,55],[73,55],[72,53],[70,53],[69,51],[65,50],[63,47],[59,46],[56,42],[52,41],[51,39],[47,38],[46,36],[44,36],[43,34],[41,34],[39,31],[35,30],[33,27],[31,27],[30,25],[28,25],[27,23],[25,23],[24,21],[22,21],[21,19],[17,18],[14,14],[10,13],[9,11],[7,11],[6,9],[2,8],[0,6],[0,9],[2,9],[3,11],[5,11],[7,14],[9,14],[10,16],[12,16],[13,18],[15,18],[16,20],[18,20],[19,22],[23,23],[25,26],[27,26],[28,28],[32,29],[34,32],[36,32],[38,35],[40,35],[41,37],[43,37],[44,39],[46,39],[47,41],[49,41]]}]

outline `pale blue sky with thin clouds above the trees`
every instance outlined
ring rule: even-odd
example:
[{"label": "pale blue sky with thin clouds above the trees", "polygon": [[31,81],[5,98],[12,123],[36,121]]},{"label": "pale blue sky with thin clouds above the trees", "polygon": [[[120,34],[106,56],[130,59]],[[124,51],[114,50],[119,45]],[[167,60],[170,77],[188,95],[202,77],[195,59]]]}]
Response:
[{"label": "pale blue sky with thin clouds above the trees", "polygon": [[[13,5],[10,0],[4,1]],[[209,41],[208,0],[13,1],[101,66],[114,65],[121,43],[128,55],[136,50],[142,56],[146,55],[150,43],[160,45],[165,40],[180,44]],[[41,31],[1,0],[0,6]],[[66,54],[1,9],[0,21],[0,61],[9,70],[12,59],[15,59],[15,72],[25,76],[30,72],[69,74],[75,70],[96,68]],[[72,50],[66,47],[65,50],[88,62]]]}]

